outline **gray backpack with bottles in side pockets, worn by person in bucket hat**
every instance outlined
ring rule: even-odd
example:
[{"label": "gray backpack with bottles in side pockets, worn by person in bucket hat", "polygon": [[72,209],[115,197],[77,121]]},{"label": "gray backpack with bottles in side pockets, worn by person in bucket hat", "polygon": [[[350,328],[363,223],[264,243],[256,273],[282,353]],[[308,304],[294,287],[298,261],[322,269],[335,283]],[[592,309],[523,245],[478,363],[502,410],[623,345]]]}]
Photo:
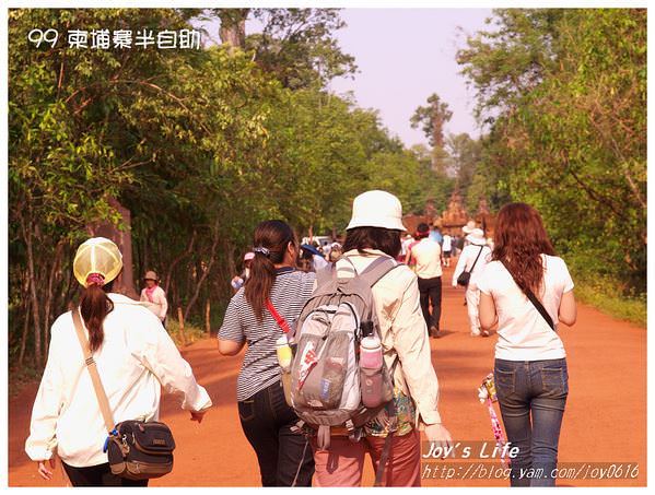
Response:
[{"label": "gray backpack with bottles in side pockets, worn by person in bucket hat", "polygon": [[[318,431],[320,449],[329,448],[330,427],[344,425],[353,440],[362,426],[391,401],[393,369],[383,365],[379,404],[362,403],[360,385],[366,379],[359,366],[362,330],[381,339],[371,288],[399,264],[391,258],[374,260],[353,278],[337,278],[337,269],[317,273],[317,288],[296,322],[296,351],[291,365],[291,398],[299,417]],[[382,339],[381,339],[382,340]],[[395,367],[396,363],[394,363]],[[393,404],[393,401],[391,401]]]}]

